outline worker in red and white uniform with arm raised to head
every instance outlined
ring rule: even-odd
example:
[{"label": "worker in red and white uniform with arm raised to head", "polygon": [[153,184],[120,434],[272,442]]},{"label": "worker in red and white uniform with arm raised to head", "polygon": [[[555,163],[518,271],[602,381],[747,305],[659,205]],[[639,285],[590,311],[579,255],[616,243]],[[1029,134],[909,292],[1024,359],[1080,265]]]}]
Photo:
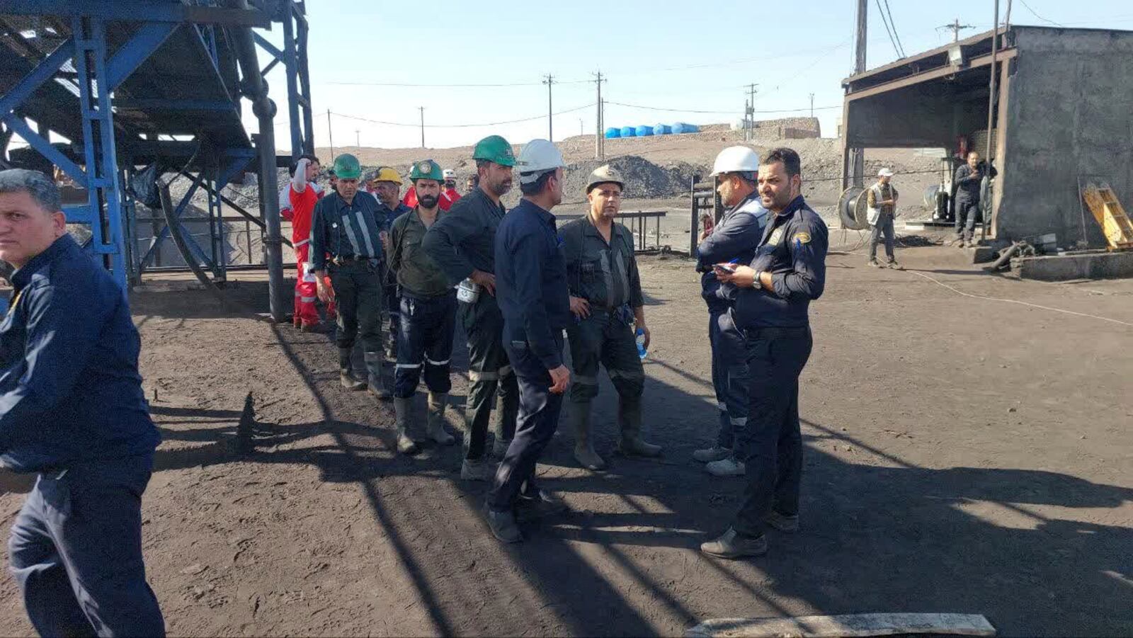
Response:
[{"label": "worker in red and white uniform with arm raised to head", "polygon": [[[300,155],[291,170],[291,182],[284,189],[288,207],[282,210],[283,219],[291,222],[291,245],[295,247],[296,282],[295,282],[295,316],[293,323],[304,332],[326,332],[326,326],[318,318],[315,308],[317,299],[317,281],[310,272],[310,215],[315,203],[323,196],[323,189],[315,184],[318,175],[318,158]],[[334,316],[334,303],[326,305],[327,317]]]}]

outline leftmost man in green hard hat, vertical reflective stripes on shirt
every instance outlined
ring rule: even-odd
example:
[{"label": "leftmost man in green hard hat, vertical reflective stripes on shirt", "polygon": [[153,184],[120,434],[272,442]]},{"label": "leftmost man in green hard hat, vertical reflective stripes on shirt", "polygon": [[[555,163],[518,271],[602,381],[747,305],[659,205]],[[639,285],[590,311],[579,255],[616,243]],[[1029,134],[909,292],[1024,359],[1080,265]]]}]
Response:
[{"label": "leftmost man in green hard hat, vertical reflective stripes on shirt", "polygon": [[[338,303],[339,381],[348,390],[369,391],[387,400],[382,383],[382,220],[377,199],[358,193],[361,167],[353,155],[334,159],[334,193],[318,201],[310,222],[310,262],[318,298],[330,299],[323,277],[330,274]],[[353,373],[355,339],[361,339],[367,382]]]}]

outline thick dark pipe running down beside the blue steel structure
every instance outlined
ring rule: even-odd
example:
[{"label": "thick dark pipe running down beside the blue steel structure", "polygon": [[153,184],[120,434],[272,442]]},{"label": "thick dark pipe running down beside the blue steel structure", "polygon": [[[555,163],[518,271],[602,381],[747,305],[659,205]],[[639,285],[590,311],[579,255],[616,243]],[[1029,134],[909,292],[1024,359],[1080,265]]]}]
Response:
[{"label": "thick dark pipe running down beside the blue steel structure", "polygon": [[[233,8],[250,9],[247,0],[232,0]],[[259,151],[259,214],[267,230],[264,238],[265,261],[267,262],[267,295],[272,320],[283,323],[287,320],[284,286],[283,286],[283,250],[280,235],[280,201],[279,170],[275,165],[275,104],[267,97],[267,83],[259,73],[259,60],[256,57],[256,44],[252,37],[250,27],[229,27],[229,35],[236,43],[240,60],[242,90],[252,99],[252,112],[259,121],[259,134],[255,135],[256,148]]]}]

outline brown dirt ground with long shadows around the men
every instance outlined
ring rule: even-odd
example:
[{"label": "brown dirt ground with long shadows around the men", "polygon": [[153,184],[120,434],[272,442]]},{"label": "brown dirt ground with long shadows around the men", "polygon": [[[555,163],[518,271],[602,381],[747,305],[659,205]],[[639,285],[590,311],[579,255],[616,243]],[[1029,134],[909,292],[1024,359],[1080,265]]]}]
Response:
[{"label": "brown dirt ground with long shadows around the men", "polygon": [[[573,511],[516,546],[483,525],[485,487],[459,482],[457,448],[391,452],[391,408],[338,386],[326,337],[147,286],[133,308],[164,442],[143,533],[169,632],[680,635],[721,616],[908,611],[981,613],[1008,636],[1127,635],[1133,281],[1014,281],[936,246],[901,257],[910,271],[830,255],[802,377],[803,530],[739,562],[697,552],[741,482],[690,458],[716,418],[688,261],[641,257],[647,429],[664,458],[610,456],[590,474],[563,432],[538,471]],[[229,295],[263,311],[264,290],[249,275]],[[457,425],[463,348],[454,360]],[[596,409],[610,454],[608,383]],[[22,499],[0,496],[5,533]],[[3,577],[0,635],[29,633]]]}]

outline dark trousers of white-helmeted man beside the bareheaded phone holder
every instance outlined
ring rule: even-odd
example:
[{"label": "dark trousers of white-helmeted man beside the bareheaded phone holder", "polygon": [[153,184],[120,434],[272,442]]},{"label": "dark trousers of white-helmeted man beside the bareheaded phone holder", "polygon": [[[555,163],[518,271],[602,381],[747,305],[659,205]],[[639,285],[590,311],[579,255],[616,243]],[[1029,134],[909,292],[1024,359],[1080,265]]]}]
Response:
[{"label": "dark trousers of white-helmeted man beside the bareheaded phone holder", "polygon": [[731,449],[736,427],[748,423],[748,360],[743,333],[730,308],[708,309],[708,344],[712,346],[712,385],[719,409],[716,445]]}]

